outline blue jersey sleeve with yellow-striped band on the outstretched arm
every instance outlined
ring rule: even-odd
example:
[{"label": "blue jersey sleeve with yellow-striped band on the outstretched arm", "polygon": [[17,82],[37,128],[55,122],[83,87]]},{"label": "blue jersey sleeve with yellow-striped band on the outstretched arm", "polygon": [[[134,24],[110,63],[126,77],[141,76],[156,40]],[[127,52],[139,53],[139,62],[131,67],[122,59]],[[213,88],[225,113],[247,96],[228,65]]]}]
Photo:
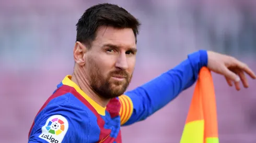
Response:
[{"label": "blue jersey sleeve with yellow-striped band on the outstretched arm", "polygon": [[200,69],[207,66],[207,60],[206,50],[196,51],[173,69],[120,96],[121,125],[145,120],[167,105],[195,83]]}]

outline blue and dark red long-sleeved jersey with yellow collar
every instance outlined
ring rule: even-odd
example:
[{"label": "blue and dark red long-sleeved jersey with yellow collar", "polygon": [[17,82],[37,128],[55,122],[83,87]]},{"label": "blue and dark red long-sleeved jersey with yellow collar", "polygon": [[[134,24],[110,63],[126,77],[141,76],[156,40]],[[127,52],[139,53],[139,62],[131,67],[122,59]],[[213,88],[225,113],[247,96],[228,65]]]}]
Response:
[{"label": "blue and dark red long-sleeved jersey with yellow collar", "polygon": [[39,110],[29,132],[32,142],[121,143],[121,126],[145,120],[176,98],[207,66],[205,50],[188,56],[177,67],[161,74],[101,107],[71,81],[71,75]]}]

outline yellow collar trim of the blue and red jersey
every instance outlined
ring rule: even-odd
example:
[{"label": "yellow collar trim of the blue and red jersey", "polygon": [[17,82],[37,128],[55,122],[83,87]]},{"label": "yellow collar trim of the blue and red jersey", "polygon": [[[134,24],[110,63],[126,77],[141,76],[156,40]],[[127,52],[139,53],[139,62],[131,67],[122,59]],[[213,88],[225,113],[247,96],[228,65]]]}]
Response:
[{"label": "yellow collar trim of the blue and red jersey", "polygon": [[88,95],[86,95],[82,89],[80,89],[80,87],[77,86],[77,84],[75,84],[73,81],[71,81],[71,75],[67,75],[63,81],[62,84],[67,85],[67,86],[71,86],[74,87],[76,89],[76,91],[82,95],[89,103],[92,107],[94,107],[94,109],[100,114],[100,115],[105,115],[105,111],[106,111],[106,107],[101,107],[100,105],[98,105],[98,103],[96,103],[94,100],[92,100]]}]

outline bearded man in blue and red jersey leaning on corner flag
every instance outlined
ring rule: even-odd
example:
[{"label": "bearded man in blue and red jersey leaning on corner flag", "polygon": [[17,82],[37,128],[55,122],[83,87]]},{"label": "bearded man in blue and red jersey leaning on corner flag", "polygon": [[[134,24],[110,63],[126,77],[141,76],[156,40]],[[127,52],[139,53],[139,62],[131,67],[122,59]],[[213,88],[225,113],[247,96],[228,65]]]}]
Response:
[{"label": "bearded man in blue and red jersey leaning on corner flag", "polygon": [[[75,67],[40,109],[29,142],[122,142],[120,126],[145,120],[197,79],[207,66],[230,86],[248,87],[245,72],[233,57],[199,50],[156,79],[125,92],[136,60],[139,21],[112,4],[90,7],[78,20]],[[139,50],[139,49],[138,49]]]}]

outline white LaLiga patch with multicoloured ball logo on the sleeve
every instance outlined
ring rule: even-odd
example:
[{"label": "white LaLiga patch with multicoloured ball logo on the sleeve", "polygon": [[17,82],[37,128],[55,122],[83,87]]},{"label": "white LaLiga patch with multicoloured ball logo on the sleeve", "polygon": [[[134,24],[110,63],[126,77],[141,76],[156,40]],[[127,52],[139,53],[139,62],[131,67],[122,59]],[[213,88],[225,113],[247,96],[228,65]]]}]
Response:
[{"label": "white LaLiga patch with multicoloured ball logo on the sleeve", "polygon": [[52,115],[42,127],[42,134],[39,137],[51,143],[60,143],[67,133],[67,129],[68,122],[64,116]]}]

